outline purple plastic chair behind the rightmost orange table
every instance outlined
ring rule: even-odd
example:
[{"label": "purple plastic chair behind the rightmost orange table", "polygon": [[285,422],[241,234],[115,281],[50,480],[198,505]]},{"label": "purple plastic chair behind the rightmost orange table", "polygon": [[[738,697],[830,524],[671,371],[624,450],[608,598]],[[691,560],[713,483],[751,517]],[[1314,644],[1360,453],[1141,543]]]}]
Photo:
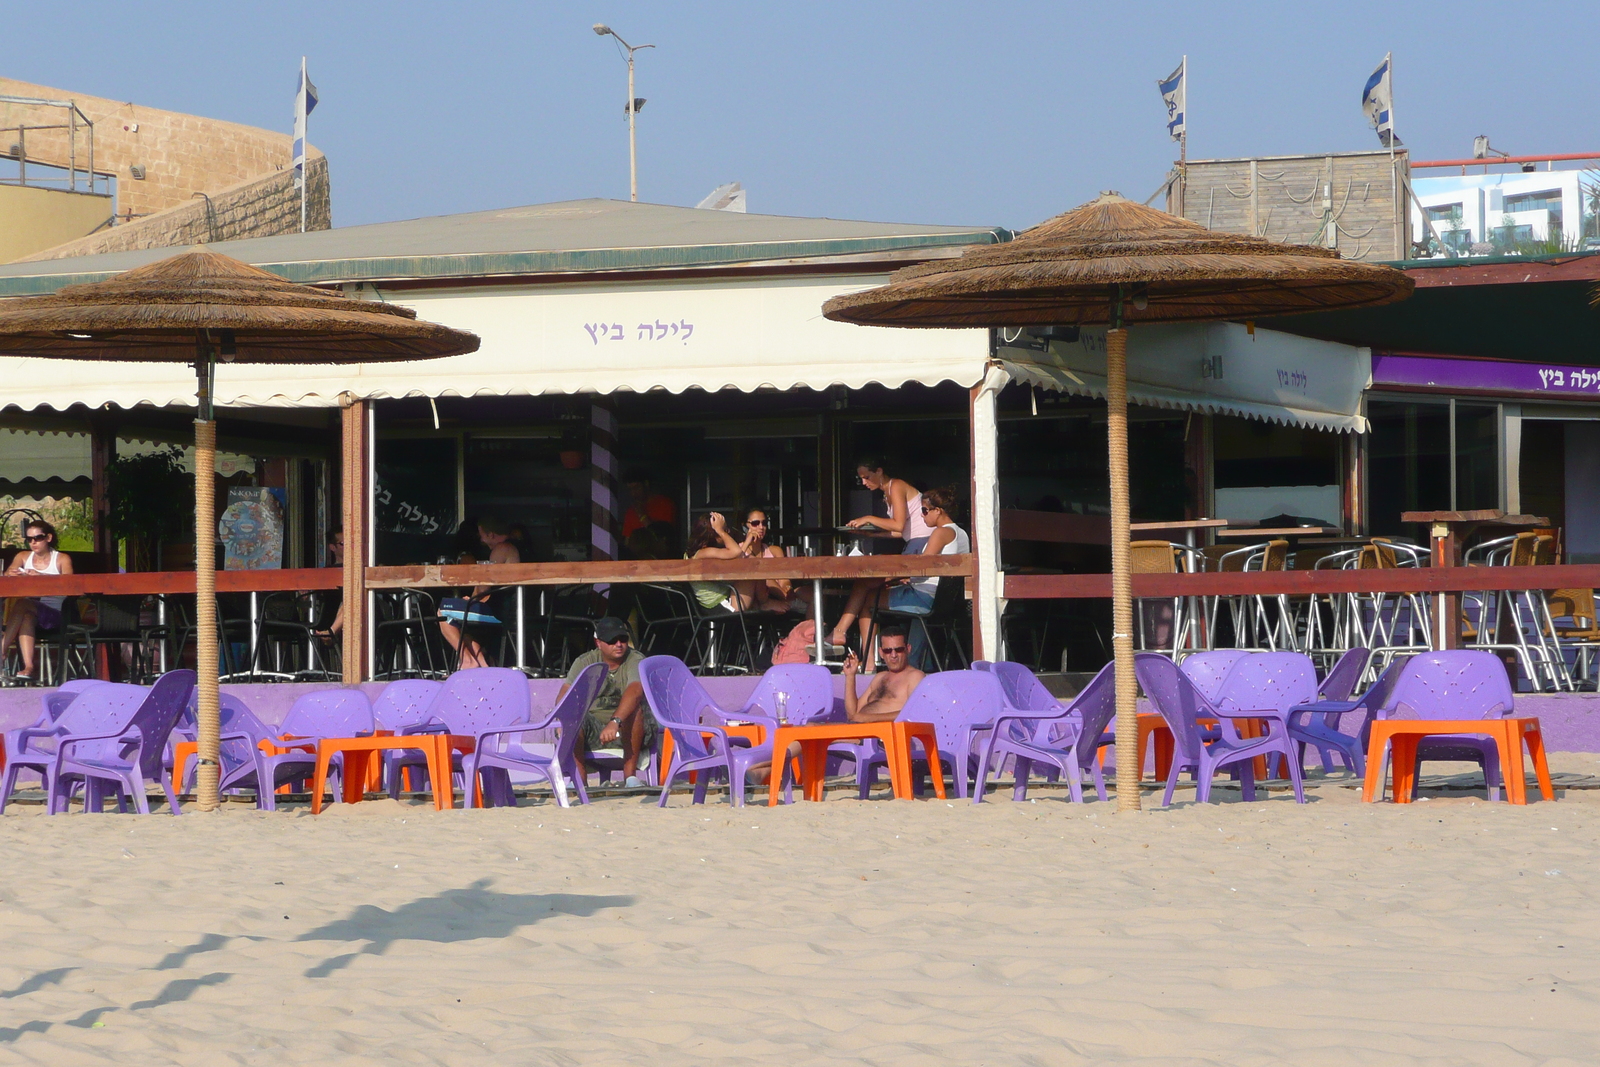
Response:
[{"label": "purple plastic chair behind the rightmost orange table", "polygon": [[[1478,649],[1422,653],[1406,661],[1389,701],[1378,709],[1379,718],[1506,718],[1515,715],[1517,697],[1510,689],[1506,665]],[[1384,752],[1389,760],[1389,752]],[[1424,737],[1416,749],[1414,782],[1421,781],[1424,761],[1462,760],[1483,769],[1483,785],[1490,800],[1499,800],[1499,747],[1486,734]],[[1518,760],[1517,774],[1522,774]],[[1384,774],[1387,779],[1387,773]]]}]

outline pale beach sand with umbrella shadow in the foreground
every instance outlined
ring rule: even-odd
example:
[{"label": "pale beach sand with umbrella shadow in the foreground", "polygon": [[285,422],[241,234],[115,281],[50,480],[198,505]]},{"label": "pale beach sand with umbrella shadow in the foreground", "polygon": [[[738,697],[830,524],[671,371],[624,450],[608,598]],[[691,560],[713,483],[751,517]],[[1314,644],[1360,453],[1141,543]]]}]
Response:
[{"label": "pale beach sand with umbrella shadow in the foreground", "polygon": [[1600,792],[1190,801],[14,806],[0,1064],[1600,1062]]}]

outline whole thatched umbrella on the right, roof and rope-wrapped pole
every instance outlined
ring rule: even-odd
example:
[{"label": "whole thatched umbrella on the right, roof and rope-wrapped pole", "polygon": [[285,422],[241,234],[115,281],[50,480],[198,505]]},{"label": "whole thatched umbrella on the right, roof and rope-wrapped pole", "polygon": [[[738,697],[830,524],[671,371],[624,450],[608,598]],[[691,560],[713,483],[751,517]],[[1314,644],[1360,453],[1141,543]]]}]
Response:
[{"label": "whole thatched umbrella on the right, roof and rope-wrapped pole", "polygon": [[829,318],[872,326],[1109,326],[1112,648],[1117,657],[1117,809],[1139,808],[1128,569],[1128,326],[1248,320],[1386,304],[1411,293],[1390,267],[1336,251],[1219,234],[1117,194],[1005,245],[896,270],[888,285],[835,296]]}]

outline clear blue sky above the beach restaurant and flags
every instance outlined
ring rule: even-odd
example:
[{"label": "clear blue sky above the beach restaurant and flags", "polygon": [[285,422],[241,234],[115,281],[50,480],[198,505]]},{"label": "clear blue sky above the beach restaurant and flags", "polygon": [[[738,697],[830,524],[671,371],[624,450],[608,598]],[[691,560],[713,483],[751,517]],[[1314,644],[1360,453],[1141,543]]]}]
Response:
[{"label": "clear blue sky above the beach restaurant and flags", "polygon": [[1189,54],[1190,157],[1378,144],[1358,99],[1395,53],[1416,158],[1600,150],[1600,3],[13,3],[0,70],[256,126],[291,125],[301,54],[336,226],[741,181],[754,211],[1024,227],[1176,144],[1155,80]]}]

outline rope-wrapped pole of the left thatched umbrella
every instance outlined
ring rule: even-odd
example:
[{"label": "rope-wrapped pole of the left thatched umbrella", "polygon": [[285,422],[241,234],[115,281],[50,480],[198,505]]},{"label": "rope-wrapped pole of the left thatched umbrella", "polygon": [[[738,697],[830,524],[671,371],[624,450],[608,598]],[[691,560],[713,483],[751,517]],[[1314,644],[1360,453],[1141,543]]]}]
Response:
[{"label": "rope-wrapped pole of the left thatched umbrella", "polygon": [[202,338],[195,352],[198,379],[198,411],[195,413],[195,726],[200,769],[195,795],[200,811],[221,806],[218,749],[221,723],[218,713],[218,637],[216,637],[216,421],[211,411],[211,389],[216,365],[211,346]]}]

